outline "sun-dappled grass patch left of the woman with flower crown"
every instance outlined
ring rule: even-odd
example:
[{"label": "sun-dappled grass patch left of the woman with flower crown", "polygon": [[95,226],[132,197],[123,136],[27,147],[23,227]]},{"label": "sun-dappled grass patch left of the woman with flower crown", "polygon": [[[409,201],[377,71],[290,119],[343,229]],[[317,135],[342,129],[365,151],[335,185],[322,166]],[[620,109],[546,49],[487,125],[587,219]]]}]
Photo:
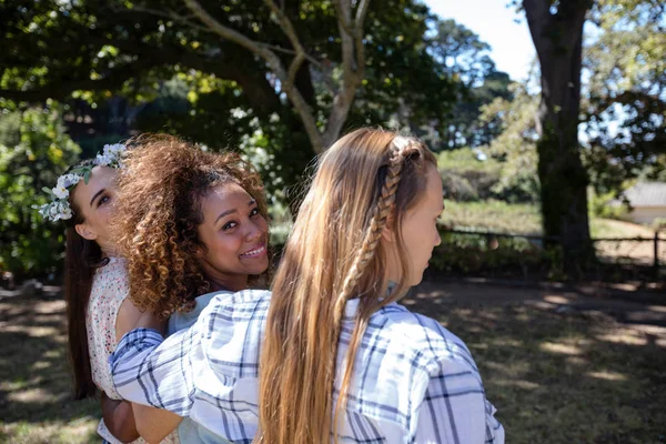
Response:
[{"label": "sun-dappled grass patch left of the woman with flower crown", "polygon": [[0,300],[0,443],[100,441],[98,401],[71,396],[61,300]]}]

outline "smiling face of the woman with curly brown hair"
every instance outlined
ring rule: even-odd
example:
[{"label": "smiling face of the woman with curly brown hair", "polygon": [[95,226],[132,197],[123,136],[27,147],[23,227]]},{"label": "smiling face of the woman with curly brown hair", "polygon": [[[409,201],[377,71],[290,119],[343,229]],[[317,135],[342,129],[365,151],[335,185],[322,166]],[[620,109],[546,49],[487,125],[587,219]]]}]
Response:
[{"label": "smiling face of the woman with curly brown hair", "polygon": [[205,276],[213,290],[245,289],[249,275],[269,266],[269,224],[256,202],[242,186],[225,183],[204,195],[201,212],[198,232],[206,246],[201,254]]}]

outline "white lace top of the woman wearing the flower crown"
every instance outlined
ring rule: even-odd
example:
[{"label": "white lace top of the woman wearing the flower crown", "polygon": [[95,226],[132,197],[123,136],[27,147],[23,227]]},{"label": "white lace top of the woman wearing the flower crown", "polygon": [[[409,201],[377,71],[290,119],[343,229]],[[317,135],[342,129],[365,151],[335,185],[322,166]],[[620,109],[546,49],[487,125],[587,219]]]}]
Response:
[{"label": "white lace top of the woman wearing the flower crown", "polygon": [[[90,351],[90,366],[92,381],[107,395],[113,400],[122,397],[115,391],[109,356],[115,350],[115,317],[120,305],[130,293],[130,285],[125,262],[121,258],[110,258],[109,263],[97,270],[92,278],[90,301],[85,314],[85,327],[88,330],[88,347]],[[111,432],[100,421],[98,433],[112,444],[120,444]],[[134,443],[145,443],[143,438]],[[162,444],[178,444],[178,432],[174,431],[167,436]]]}]

